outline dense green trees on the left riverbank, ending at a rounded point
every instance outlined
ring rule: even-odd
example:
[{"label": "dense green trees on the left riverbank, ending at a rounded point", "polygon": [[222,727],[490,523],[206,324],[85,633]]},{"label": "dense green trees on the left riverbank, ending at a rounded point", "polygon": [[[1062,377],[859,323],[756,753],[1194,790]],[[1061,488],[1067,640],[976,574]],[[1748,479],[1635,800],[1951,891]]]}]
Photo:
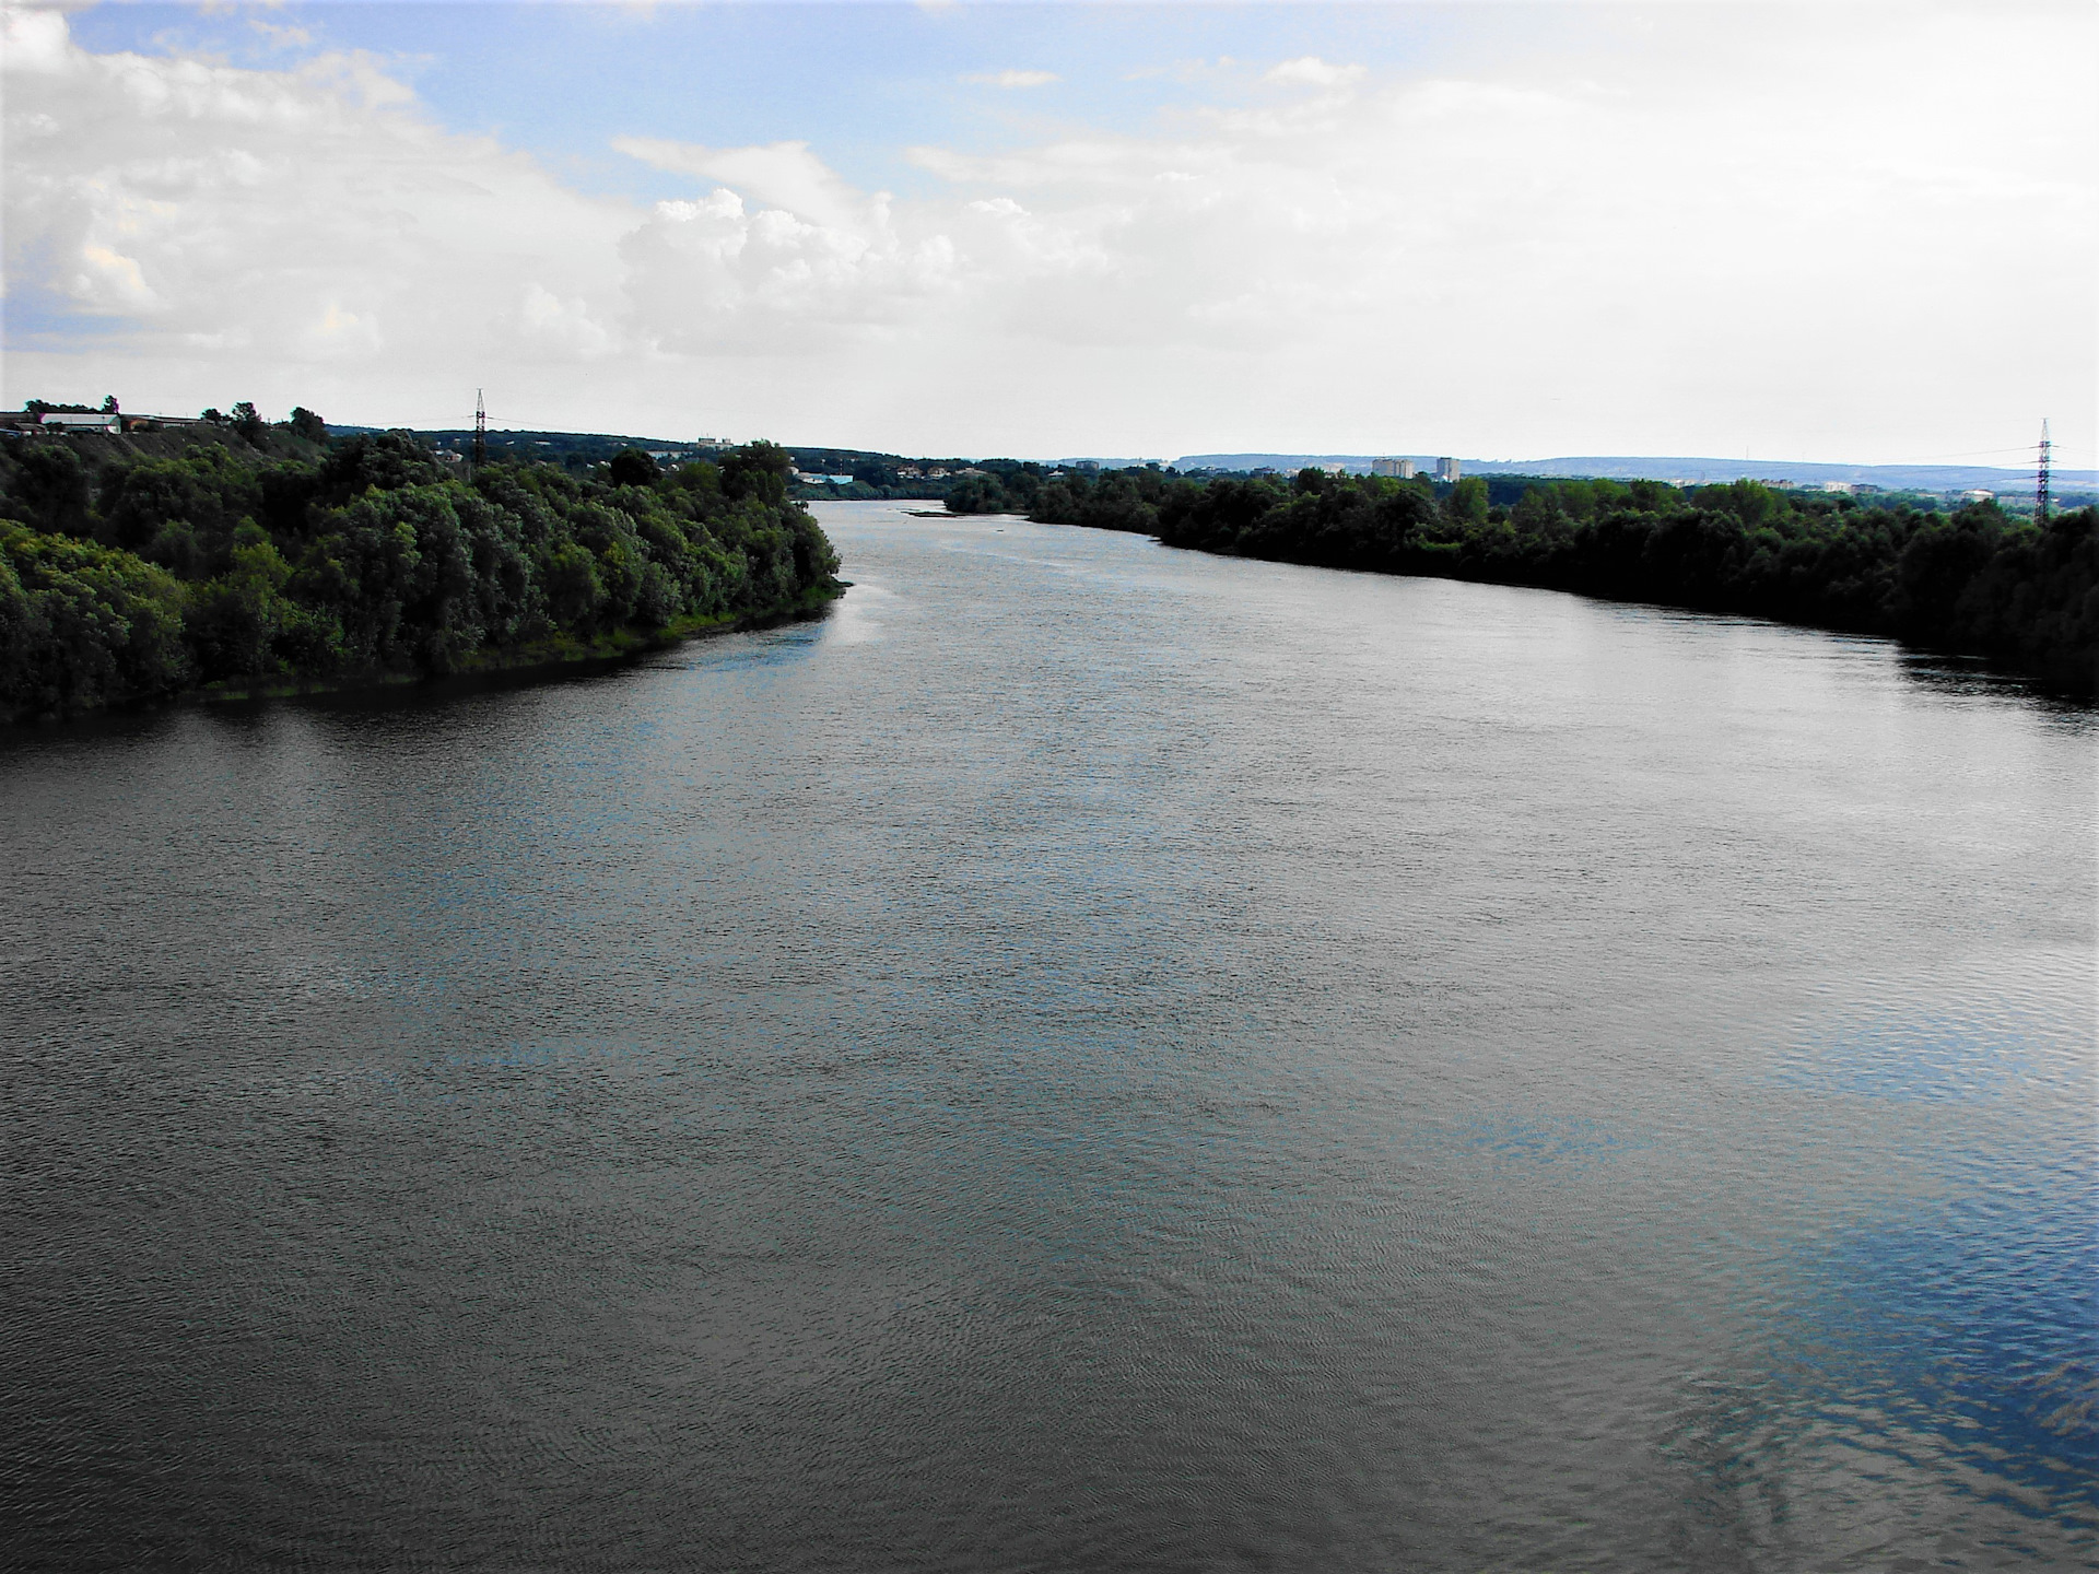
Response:
[{"label": "dense green trees on the left riverbank, ending at a rounded point", "polygon": [[609,655],[838,594],[770,443],[468,481],[298,413],[0,445],[0,716]]}]

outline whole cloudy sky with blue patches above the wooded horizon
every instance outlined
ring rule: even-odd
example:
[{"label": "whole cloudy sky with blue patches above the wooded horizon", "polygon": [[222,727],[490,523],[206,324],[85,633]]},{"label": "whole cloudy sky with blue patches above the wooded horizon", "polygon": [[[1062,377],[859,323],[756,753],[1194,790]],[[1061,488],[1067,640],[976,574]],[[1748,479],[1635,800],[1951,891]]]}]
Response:
[{"label": "whole cloudy sky with blue patches above the wooded horizon", "polygon": [[4,0],[0,397],[2093,466],[2089,4]]}]

